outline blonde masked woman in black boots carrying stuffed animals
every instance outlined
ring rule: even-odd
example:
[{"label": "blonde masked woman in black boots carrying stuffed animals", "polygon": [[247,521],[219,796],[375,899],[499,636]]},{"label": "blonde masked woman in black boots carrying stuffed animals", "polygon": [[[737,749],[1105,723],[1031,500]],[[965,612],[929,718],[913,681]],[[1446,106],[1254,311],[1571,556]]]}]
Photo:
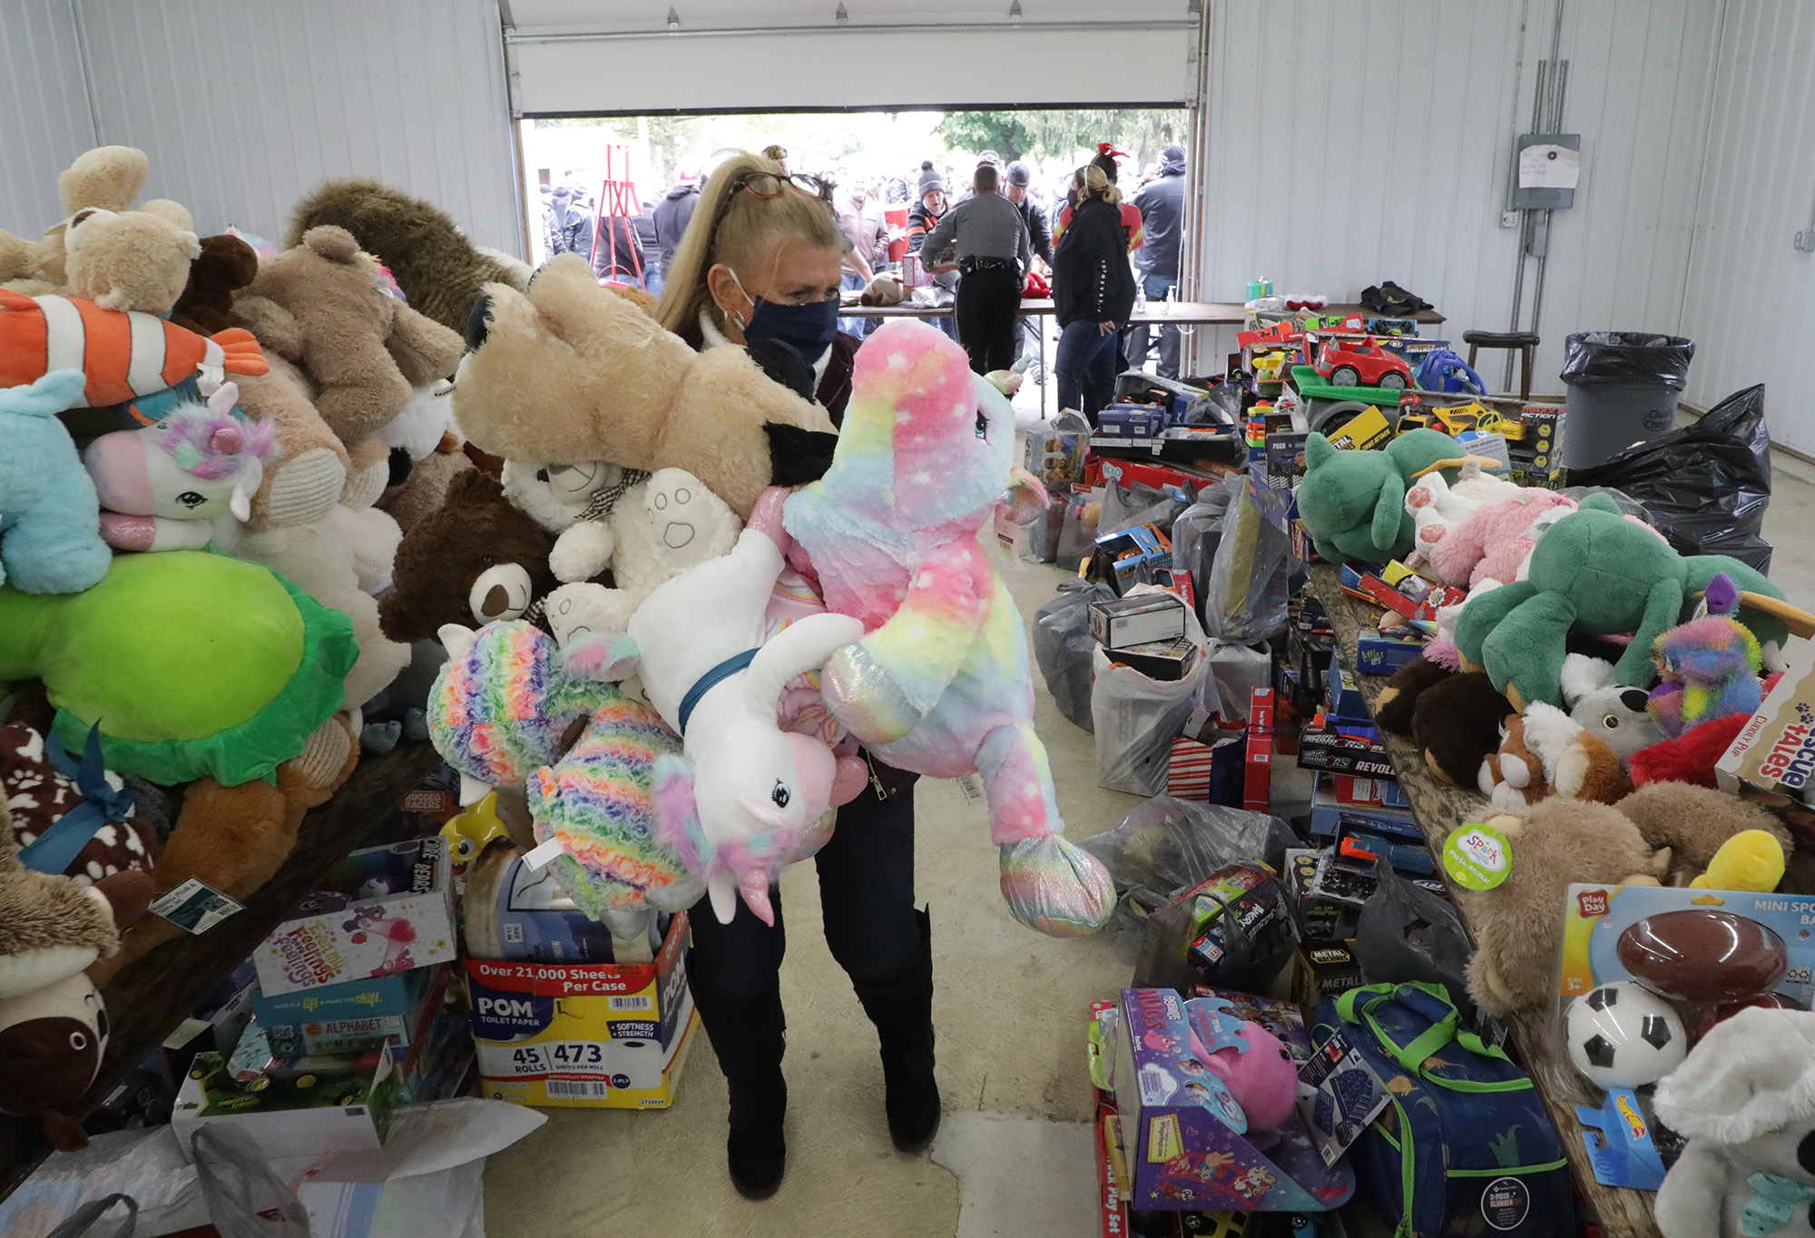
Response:
[{"label": "blonde masked woman in black boots carrying stuffed animals", "polygon": [[[857,341],[839,334],[848,241],[829,185],[786,176],[739,152],[719,165],[675,251],[657,318],[697,349],[744,345],[779,383],[817,398],[837,425],[851,392]],[[809,481],[809,477],[800,477]],[[913,773],[869,759],[869,788],[839,810],[815,862],[826,944],[851,977],[882,1042],[889,1136],[920,1151],[938,1131],[933,1080],[933,955],[913,897]],[[719,924],[702,899],[692,915],[688,980],[731,1095],[726,1160],[748,1198],[766,1198],[786,1167],[777,891],[770,928],[739,902]]]}]

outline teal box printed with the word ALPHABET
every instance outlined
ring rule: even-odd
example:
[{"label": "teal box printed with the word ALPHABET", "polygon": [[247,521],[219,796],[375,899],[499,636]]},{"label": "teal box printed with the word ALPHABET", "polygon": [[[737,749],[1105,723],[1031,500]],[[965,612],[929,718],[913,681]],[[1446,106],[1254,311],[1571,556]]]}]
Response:
[{"label": "teal box printed with the word ALPHABET", "polygon": [[441,991],[437,980],[445,984],[443,968],[414,968],[274,997],[252,989],[252,1017],[281,1056],[361,1053],[381,1044],[405,1049],[423,1024],[430,991]]}]

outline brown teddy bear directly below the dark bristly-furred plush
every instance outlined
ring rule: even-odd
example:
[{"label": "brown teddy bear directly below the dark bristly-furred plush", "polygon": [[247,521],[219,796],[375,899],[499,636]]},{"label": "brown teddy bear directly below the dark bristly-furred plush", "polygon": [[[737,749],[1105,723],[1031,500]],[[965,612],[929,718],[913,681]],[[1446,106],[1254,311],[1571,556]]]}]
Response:
[{"label": "brown teddy bear directly below the dark bristly-furred plush", "polygon": [[396,418],[412,388],[452,374],[461,354],[459,336],[390,296],[338,227],[261,261],[234,314],[267,352],[307,368],[316,410],[347,445]]}]

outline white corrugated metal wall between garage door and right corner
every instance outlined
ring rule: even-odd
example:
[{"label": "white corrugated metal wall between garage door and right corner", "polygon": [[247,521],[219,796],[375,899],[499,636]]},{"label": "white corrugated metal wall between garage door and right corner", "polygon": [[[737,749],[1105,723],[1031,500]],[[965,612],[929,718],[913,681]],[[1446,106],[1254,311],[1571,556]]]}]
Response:
[{"label": "white corrugated metal wall between garage door and right corner", "polygon": [[[1240,300],[1251,276],[1343,301],[1394,280],[1437,305],[1450,339],[1506,330],[1519,232],[1499,212],[1554,15],[1548,0],[1216,0],[1205,300]],[[1565,0],[1563,122],[1583,134],[1583,176],[1554,214],[1535,390],[1561,390],[1572,330],[1675,329],[1715,27],[1706,0]],[[1485,378],[1497,387],[1499,367]]]}]

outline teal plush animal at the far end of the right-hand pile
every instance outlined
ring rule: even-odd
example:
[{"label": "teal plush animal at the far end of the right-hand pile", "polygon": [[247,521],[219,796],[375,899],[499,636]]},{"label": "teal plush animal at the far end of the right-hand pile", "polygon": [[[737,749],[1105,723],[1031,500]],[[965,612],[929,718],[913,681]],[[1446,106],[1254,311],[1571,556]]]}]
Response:
[{"label": "teal plush animal at the far end of the right-hand pile", "polygon": [[[1412,552],[1418,532],[1405,510],[1405,488],[1439,459],[1461,457],[1461,443],[1437,430],[1407,430],[1376,452],[1338,450],[1312,434],[1305,439],[1298,516],[1330,563],[1399,559]],[[1445,479],[1454,481],[1456,472],[1445,470]]]}]

